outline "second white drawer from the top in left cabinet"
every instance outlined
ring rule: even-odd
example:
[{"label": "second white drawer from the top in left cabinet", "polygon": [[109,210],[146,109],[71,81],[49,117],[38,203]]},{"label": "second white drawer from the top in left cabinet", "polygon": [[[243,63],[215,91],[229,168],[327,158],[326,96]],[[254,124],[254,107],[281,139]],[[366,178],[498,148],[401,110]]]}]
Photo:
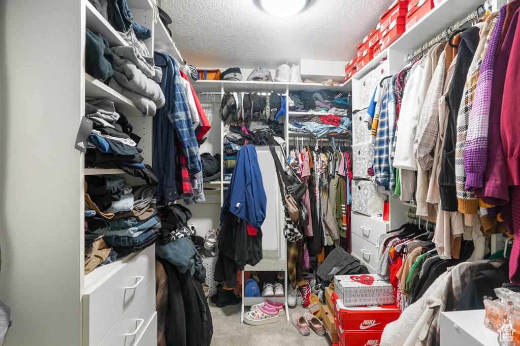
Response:
[{"label": "second white drawer from the top in left cabinet", "polygon": [[[156,316],[155,312],[155,281],[150,282],[145,291],[137,298],[125,312],[118,323],[110,330],[99,346],[137,346],[139,340],[147,331],[150,321]],[[157,344],[157,323],[155,327],[155,343]],[[145,344],[144,341],[142,343]]]}]

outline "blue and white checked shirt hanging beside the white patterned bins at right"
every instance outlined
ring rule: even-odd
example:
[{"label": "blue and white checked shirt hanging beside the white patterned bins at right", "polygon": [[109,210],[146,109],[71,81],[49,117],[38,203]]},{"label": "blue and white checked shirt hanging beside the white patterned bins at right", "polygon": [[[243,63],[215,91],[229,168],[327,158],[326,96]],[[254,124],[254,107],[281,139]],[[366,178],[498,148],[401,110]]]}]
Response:
[{"label": "blue and white checked shirt hanging beside the white patterned bins at right", "polygon": [[381,103],[381,112],[379,114],[378,131],[375,134],[374,146],[374,175],[378,185],[382,185],[388,190],[388,178],[390,175],[389,158],[389,129],[388,129],[388,86],[392,78],[383,81],[384,93],[383,102]]}]

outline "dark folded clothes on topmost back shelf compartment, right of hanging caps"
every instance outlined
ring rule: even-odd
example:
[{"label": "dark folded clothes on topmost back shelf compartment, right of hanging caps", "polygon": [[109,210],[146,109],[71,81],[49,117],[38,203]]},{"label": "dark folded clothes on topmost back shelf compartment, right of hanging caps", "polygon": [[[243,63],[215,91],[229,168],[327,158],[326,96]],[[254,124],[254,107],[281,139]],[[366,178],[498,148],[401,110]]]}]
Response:
[{"label": "dark folded clothes on topmost back shelf compartment, right of hanging caps", "polygon": [[341,92],[321,90],[311,93],[294,91],[289,93],[289,110],[292,112],[313,112],[352,117],[348,97]]}]

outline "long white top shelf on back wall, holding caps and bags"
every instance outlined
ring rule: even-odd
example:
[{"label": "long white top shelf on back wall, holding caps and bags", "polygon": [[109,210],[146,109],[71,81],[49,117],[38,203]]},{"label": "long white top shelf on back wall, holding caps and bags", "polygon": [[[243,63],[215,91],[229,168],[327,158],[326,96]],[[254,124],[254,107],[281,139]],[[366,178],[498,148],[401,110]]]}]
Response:
[{"label": "long white top shelf on back wall, holding caps and bags", "polygon": [[297,91],[318,91],[322,89],[337,90],[341,92],[352,91],[352,79],[337,86],[328,86],[319,83],[285,83],[277,81],[242,81],[242,80],[197,80],[192,83],[193,89],[197,92],[220,92],[224,91],[245,91],[245,92],[278,92],[285,93],[289,90]]}]

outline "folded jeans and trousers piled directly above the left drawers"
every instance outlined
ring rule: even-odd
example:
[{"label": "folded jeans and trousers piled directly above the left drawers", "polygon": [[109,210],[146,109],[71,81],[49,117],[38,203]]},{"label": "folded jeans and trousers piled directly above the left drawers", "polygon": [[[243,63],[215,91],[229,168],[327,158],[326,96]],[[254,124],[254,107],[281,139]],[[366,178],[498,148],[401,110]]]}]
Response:
[{"label": "folded jeans and trousers piled directly above the left drawers", "polygon": [[[151,185],[131,187],[116,176],[85,177],[85,248],[94,251],[88,271],[157,240],[161,222],[153,196]],[[85,273],[86,257],[87,252]]]}]

